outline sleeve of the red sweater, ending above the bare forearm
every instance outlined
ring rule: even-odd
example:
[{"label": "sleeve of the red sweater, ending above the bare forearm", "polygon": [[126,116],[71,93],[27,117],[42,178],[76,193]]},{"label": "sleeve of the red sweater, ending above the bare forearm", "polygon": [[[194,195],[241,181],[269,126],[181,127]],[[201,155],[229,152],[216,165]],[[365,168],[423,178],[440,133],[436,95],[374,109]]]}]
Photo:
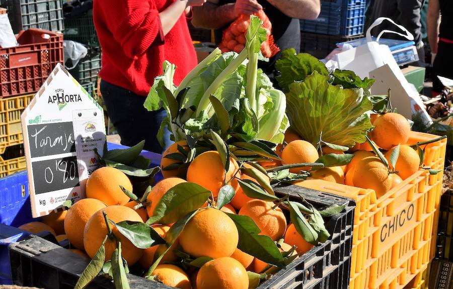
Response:
[{"label": "sleeve of the red sweater, ending above the bare forearm", "polygon": [[105,20],[116,41],[121,44],[124,53],[134,58],[143,54],[155,41],[162,44],[162,30],[159,11],[150,7],[148,1],[102,1]]}]

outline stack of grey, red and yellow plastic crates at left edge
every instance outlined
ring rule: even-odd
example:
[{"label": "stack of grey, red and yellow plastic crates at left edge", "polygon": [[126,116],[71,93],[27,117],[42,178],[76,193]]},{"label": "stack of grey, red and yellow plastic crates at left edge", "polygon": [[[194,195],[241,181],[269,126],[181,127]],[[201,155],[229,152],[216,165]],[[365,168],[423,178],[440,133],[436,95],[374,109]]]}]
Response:
[{"label": "stack of grey, red and yellow plastic crates at left edge", "polygon": [[8,0],[2,6],[22,31],[19,46],[0,48],[0,177],[25,169],[21,114],[53,67],[63,64],[63,35],[37,29],[62,29],[60,0]]}]

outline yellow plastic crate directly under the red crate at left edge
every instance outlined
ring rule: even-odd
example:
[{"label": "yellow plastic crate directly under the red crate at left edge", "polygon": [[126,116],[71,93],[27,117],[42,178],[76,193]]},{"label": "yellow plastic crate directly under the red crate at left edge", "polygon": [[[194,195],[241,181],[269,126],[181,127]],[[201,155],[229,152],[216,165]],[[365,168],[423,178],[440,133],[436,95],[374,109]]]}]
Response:
[{"label": "yellow plastic crate directly under the red crate at left edge", "polygon": [[[22,144],[24,138],[21,127],[21,114],[35,94],[0,99],[0,154],[7,147]],[[0,172],[3,171],[0,169]]]}]

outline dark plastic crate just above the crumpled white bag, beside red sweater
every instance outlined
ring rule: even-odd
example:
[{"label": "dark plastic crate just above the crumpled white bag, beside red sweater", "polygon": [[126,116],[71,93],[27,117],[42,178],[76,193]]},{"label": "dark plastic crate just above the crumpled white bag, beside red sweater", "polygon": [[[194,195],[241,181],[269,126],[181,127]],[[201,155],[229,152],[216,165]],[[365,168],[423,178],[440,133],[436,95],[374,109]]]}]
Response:
[{"label": "dark plastic crate just above the crumpled white bag, beside red sweater", "polygon": [[64,39],[99,47],[98,34],[93,22],[93,9],[77,17],[64,18]]}]

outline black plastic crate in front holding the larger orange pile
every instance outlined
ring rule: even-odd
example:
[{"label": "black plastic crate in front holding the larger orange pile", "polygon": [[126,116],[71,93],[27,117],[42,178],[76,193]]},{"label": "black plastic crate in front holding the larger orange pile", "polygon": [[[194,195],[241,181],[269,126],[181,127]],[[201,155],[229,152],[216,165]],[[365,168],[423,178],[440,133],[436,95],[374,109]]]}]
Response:
[{"label": "black plastic crate in front holding the larger orange pile", "polygon": [[[346,208],[327,222],[329,240],[294,260],[258,288],[348,288],[355,202],[294,185],[275,187],[275,191],[288,194],[294,200],[301,196],[315,207],[337,204],[346,205]],[[13,283],[40,288],[72,288],[89,262],[85,257],[36,236],[11,244],[9,253]],[[135,275],[128,275],[128,278],[132,289],[171,288]],[[98,277],[88,288],[113,289],[114,285]]]}]

